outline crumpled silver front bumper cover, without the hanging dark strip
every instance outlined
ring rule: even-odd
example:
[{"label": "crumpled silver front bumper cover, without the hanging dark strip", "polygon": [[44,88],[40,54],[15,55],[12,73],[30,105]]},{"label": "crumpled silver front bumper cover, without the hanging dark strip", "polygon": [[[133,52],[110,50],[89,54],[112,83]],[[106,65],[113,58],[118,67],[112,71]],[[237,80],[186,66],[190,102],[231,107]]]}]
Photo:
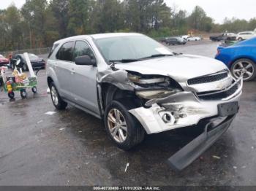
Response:
[{"label": "crumpled silver front bumper cover, without the hanging dark strip", "polygon": [[236,93],[221,100],[202,101],[192,92],[181,92],[157,101],[149,101],[148,108],[140,107],[129,112],[138,119],[148,134],[194,126],[200,120],[218,117],[219,104],[238,102],[242,93],[242,79],[234,85],[237,84],[239,87]]}]

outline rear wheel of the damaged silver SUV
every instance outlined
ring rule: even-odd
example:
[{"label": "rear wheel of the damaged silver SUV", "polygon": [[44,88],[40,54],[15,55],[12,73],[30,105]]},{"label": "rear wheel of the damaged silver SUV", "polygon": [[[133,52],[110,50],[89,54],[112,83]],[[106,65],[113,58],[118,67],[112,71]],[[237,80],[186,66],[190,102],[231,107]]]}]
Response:
[{"label": "rear wheel of the damaged silver SUV", "polygon": [[67,108],[67,102],[61,99],[61,96],[59,95],[59,92],[54,82],[50,83],[50,97],[51,97],[51,100],[53,101],[53,106],[55,106],[56,109],[64,110]]}]

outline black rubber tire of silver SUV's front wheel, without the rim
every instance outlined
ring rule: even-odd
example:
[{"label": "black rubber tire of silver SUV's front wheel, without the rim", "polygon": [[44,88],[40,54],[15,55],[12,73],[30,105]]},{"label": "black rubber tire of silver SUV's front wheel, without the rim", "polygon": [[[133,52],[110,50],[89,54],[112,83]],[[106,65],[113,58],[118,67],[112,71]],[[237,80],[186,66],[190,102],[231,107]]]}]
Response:
[{"label": "black rubber tire of silver SUV's front wheel, without the rim", "polygon": [[[105,109],[104,122],[108,136],[117,147],[123,150],[132,149],[132,147],[140,144],[145,137],[145,130],[141,127],[140,122],[138,122],[138,120],[136,120],[135,117],[128,112],[129,109],[132,109],[131,106],[132,105],[129,103],[129,101],[126,101],[126,104],[121,104],[119,101],[112,101]],[[113,111],[113,109],[118,109],[118,111],[121,112],[122,116],[124,117],[123,120],[125,120],[127,125],[126,139],[123,142],[116,141],[110,132],[108,115],[111,111]]]}]

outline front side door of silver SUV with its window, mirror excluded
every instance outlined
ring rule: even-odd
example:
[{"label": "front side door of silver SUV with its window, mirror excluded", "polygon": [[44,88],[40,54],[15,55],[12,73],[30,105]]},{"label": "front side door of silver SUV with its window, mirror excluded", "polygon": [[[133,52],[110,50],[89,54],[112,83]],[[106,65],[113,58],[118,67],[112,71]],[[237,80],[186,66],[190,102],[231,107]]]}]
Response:
[{"label": "front side door of silver SUV with its window, mirror excluded", "polygon": [[[73,61],[75,58],[89,55],[92,60],[97,60],[89,42],[78,40],[75,42]],[[75,74],[72,78],[72,92],[75,103],[99,114],[97,100],[97,67],[75,65]]]}]

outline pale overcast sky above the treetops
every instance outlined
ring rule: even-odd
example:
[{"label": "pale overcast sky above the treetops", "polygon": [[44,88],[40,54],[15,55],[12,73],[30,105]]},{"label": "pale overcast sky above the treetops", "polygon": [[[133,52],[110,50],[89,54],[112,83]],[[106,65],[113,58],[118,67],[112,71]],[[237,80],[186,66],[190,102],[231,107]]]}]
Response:
[{"label": "pale overcast sky above the treetops", "polygon": [[[12,2],[21,7],[26,0],[1,0],[0,9],[7,8]],[[256,17],[255,0],[165,0],[169,7],[175,4],[178,9],[192,12],[195,5],[203,7],[207,15],[213,17],[216,23],[222,23],[225,17],[237,17],[249,20]]]}]

